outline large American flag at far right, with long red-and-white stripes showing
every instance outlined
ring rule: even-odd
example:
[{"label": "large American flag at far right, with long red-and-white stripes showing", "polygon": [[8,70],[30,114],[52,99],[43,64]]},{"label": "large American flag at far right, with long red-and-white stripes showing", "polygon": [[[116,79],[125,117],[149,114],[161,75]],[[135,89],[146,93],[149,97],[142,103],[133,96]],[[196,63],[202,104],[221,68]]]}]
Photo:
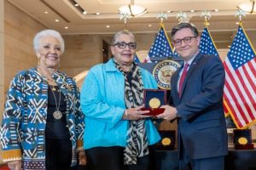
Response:
[{"label": "large American flag at far right, with long red-and-white stripes showing", "polygon": [[256,120],[256,57],[241,23],[224,68],[224,105],[236,127],[246,128]]}]

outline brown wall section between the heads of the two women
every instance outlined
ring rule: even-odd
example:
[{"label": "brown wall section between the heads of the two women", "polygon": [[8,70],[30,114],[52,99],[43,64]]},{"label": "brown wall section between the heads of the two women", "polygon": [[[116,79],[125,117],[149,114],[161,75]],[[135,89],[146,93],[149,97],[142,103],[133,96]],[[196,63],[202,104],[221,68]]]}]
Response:
[{"label": "brown wall section between the heads of the two women", "polygon": [[99,35],[63,36],[65,52],[61,56],[61,71],[75,77],[92,65],[102,63],[102,37]]}]

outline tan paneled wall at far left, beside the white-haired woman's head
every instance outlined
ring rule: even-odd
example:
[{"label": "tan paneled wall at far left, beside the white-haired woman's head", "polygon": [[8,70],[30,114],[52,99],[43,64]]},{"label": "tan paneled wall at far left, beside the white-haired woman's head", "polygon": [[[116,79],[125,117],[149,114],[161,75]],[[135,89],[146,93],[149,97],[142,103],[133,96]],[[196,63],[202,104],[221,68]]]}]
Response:
[{"label": "tan paneled wall at far left, beside the white-haired woman's head", "polygon": [[46,26],[4,1],[4,89],[15,75],[38,64],[32,40]]}]

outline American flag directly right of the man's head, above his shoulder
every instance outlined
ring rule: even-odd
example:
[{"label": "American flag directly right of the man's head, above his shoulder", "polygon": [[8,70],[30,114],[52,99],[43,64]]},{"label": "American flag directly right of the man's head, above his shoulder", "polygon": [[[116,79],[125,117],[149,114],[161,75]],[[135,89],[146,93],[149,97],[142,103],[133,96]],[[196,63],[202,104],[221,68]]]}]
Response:
[{"label": "American flag directly right of the man's head, above his shoulder", "polygon": [[207,23],[205,24],[204,31],[201,33],[199,51],[201,54],[213,54],[218,56],[217,48],[212,40],[211,33],[208,30]]}]

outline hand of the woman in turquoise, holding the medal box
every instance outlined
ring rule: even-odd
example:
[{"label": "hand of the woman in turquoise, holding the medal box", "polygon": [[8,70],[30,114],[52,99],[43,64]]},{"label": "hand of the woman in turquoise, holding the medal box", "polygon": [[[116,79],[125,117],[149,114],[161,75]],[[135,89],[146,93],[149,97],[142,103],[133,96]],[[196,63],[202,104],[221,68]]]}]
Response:
[{"label": "hand of the woman in turquoise, holding the medal box", "polygon": [[134,120],[150,117],[150,116],[144,115],[146,113],[149,113],[149,111],[141,111],[143,107],[144,105],[141,105],[135,108],[126,109],[123,115],[123,119],[134,121]]}]

